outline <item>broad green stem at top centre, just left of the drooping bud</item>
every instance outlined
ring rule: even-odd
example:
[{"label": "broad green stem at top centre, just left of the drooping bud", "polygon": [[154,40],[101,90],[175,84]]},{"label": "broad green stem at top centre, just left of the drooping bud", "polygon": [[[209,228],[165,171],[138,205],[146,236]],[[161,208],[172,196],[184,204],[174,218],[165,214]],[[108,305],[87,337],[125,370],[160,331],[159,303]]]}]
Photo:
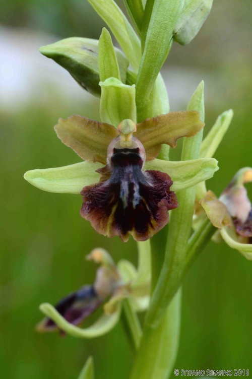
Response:
[{"label": "broad green stem at top centre, just left of the drooping bud", "polygon": [[140,108],[148,101],[159,71],[168,55],[172,44],[173,29],[182,8],[183,0],[156,0],[149,18],[147,2],[143,23],[145,23],[145,18],[150,21],[147,22],[146,38],[142,35],[145,43],[136,83],[136,102]]}]

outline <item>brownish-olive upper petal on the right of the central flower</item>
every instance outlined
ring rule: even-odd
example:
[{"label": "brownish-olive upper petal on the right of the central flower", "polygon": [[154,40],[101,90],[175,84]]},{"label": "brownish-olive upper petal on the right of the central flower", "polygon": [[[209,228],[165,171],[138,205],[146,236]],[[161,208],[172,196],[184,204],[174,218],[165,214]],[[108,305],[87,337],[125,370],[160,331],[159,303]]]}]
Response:
[{"label": "brownish-olive upper petal on the right of the central flower", "polygon": [[157,157],[161,145],[176,146],[178,138],[192,137],[204,127],[195,110],[170,112],[137,124],[135,136],[145,147],[147,161]]}]

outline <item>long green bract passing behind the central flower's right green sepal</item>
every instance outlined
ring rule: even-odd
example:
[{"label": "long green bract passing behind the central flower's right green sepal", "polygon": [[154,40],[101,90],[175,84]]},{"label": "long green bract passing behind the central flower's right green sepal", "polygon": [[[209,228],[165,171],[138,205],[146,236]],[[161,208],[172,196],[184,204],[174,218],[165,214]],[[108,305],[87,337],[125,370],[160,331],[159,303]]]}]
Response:
[{"label": "long green bract passing behind the central flower's right green sepal", "polygon": [[[203,91],[204,83],[201,82],[188,105],[188,110],[195,109],[200,112],[202,120],[204,120]],[[182,160],[198,158],[201,141],[201,132],[195,137],[184,139]],[[195,195],[196,186],[185,189],[177,195],[179,208],[171,212],[164,265],[146,315],[147,325],[153,326],[160,322],[181,283],[187,241],[191,234]]]}]

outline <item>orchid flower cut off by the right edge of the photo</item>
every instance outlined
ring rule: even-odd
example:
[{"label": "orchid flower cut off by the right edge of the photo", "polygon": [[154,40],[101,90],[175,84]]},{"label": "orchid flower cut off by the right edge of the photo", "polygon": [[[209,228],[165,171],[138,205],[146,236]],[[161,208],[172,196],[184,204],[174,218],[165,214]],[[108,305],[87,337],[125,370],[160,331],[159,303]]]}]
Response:
[{"label": "orchid flower cut off by the right edge of the photo", "polygon": [[252,168],[240,169],[219,199],[208,191],[201,201],[212,224],[225,242],[252,260],[252,206],[244,183],[252,181]]}]

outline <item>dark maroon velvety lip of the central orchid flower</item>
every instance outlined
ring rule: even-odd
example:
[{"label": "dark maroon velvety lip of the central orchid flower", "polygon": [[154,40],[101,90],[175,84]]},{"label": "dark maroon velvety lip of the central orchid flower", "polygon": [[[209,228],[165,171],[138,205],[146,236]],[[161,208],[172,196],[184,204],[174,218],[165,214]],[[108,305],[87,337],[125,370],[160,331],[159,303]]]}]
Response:
[{"label": "dark maroon velvety lip of the central orchid flower", "polygon": [[[116,149],[115,149],[116,150]],[[96,231],[109,237],[129,234],[144,241],[169,221],[168,210],[178,206],[172,180],[162,172],[143,172],[138,149],[120,149],[111,157],[111,168],[103,169],[108,180],[86,186],[81,215]],[[107,172],[106,172],[107,171]]]}]

